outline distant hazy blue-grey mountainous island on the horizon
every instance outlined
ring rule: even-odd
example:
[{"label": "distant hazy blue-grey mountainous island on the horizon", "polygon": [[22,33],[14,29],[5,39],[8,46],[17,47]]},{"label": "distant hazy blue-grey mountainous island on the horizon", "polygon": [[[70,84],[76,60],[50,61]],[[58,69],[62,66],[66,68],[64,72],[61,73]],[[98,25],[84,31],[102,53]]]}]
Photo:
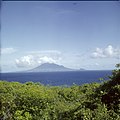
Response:
[{"label": "distant hazy blue-grey mountainous island on the horizon", "polygon": [[[79,69],[79,70],[85,70],[85,69]],[[62,72],[62,71],[79,71],[76,69],[71,69],[64,67],[63,65],[58,65],[54,63],[44,63],[36,68],[33,68],[31,70],[28,70],[27,72]]]}]

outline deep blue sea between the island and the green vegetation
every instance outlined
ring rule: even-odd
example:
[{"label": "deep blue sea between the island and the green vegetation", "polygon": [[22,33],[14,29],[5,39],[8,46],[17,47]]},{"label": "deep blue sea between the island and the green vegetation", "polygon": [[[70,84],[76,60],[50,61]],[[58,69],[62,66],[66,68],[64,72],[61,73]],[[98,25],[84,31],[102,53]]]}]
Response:
[{"label": "deep blue sea between the island and the green vegetation", "polygon": [[44,85],[71,86],[85,83],[100,82],[99,78],[108,79],[110,70],[101,71],[71,71],[71,72],[39,72],[39,73],[1,73],[1,80],[17,81],[25,83],[28,81],[40,82]]}]

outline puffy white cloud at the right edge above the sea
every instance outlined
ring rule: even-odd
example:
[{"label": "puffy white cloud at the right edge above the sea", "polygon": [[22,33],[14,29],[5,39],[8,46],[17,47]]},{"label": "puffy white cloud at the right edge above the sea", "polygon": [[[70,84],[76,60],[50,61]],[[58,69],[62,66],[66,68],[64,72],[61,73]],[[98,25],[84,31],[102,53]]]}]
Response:
[{"label": "puffy white cloud at the right edge above the sea", "polygon": [[91,55],[92,58],[117,58],[120,57],[120,49],[108,45],[106,48],[96,48]]}]

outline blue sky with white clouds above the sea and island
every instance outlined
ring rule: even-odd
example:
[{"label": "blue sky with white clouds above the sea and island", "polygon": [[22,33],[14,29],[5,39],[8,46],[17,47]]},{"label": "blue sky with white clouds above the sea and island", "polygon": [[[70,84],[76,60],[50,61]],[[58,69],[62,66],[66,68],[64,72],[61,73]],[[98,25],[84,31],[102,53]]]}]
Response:
[{"label": "blue sky with white clouds above the sea and island", "polygon": [[120,63],[120,2],[3,1],[2,72],[43,63],[114,69]]}]

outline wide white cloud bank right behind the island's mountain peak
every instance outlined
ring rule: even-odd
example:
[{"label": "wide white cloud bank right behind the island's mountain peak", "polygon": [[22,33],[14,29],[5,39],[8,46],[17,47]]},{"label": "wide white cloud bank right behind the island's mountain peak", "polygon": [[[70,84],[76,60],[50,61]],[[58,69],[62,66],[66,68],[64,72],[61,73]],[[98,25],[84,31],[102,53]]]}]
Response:
[{"label": "wide white cloud bank right behind the island's mountain peak", "polygon": [[34,67],[43,63],[59,63],[61,56],[59,52],[39,51],[32,52],[30,55],[23,56],[15,60],[17,67]]}]

